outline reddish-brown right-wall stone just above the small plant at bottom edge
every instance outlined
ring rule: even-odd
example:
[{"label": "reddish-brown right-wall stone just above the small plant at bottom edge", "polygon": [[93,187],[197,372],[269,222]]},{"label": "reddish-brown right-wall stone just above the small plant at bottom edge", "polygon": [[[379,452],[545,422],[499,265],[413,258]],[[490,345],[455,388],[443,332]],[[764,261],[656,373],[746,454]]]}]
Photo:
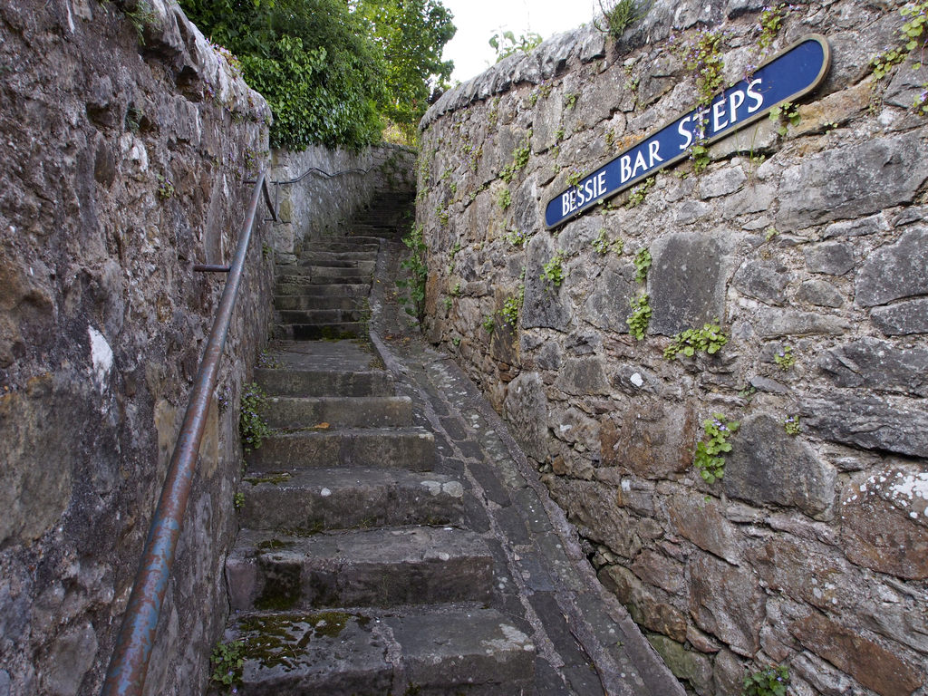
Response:
[{"label": "reddish-brown right-wall stone just above the small plant at bottom edge", "polygon": [[703,631],[740,655],[760,647],[760,626],[767,599],[746,567],[699,554],[690,561],[690,616]]}]

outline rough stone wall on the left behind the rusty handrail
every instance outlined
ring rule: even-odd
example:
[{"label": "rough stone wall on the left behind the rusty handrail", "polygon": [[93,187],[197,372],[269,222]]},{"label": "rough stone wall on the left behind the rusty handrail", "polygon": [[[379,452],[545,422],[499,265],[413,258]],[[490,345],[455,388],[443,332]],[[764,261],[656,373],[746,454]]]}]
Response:
[{"label": "rough stone wall on the left behind the rusty handrail", "polygon": [[[2,696],[99,692],[225,281],[192,266],[231,261],[266,158],[264,99],[177,6],[148,4],[0,5]],[[150,694],[201,693],[225,624],[270,232],[251,241]]]}]

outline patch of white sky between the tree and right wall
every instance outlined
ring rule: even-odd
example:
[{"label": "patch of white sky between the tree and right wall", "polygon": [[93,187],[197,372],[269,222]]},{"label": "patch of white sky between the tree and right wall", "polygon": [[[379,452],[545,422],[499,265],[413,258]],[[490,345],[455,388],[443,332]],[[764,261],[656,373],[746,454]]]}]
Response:
[{"label": "patch of white sky between the tree and right wall", "polygon": [[455,37],[442,57],[455,61],[451,83],[462,83],[496,62],[487,43],[500,29],[516,35],[535,32],[543,39],[574,29],[593,18],[596,0],[442,0],[455,16]]}]

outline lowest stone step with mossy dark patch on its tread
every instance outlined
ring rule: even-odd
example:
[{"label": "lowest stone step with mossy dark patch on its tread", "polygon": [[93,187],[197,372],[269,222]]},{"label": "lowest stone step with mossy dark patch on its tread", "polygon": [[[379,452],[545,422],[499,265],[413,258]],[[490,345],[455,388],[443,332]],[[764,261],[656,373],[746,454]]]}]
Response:
[{"label": "lowest stone step with mossy dark patch on its tread", "polygon": [[[358,610],[239,614],[247,696],[532,693],[535,646],[492,609],[379,615]],[[399,664],[396,664],[399,663]]]}]

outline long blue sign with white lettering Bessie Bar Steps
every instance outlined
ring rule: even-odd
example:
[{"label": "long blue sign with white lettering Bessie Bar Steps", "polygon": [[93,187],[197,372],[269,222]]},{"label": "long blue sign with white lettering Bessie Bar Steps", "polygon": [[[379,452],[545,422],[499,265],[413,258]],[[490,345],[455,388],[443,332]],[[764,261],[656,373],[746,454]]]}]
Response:
[{"label": "long blue sign with white lettering Bessie Bar Steps", "polygon": [[708,107],[698,107],[668,123],[548,201],[545,225],[548,229],[559,226],[659,169],[689,157],[694,144],[711,143],[762,118],[778,104],[802,97],[821,83],[830,62],[825,37],[806,36],[728,87]]}]

